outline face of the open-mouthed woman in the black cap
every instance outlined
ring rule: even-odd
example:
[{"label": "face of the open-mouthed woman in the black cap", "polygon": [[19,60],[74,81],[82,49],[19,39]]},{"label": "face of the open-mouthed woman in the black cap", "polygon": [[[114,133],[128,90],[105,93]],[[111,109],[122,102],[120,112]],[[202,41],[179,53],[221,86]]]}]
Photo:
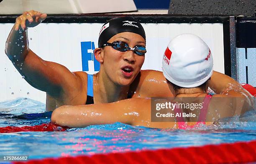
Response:
[{"label": "face of the open-mouthed woman in the black cap", "polygon": [[[122,32],[108,40],[109,43],[114,41],[126,42],[131,48],[136,45],[146,47],[144,38],[133,32]],[[121,52],[112,46],[105,46],[102,52],[101,71],[104,71],[110,80],[120,86],[128,86],[133,82],[145,59],[145,55],[137,55],[133,50]]]}]

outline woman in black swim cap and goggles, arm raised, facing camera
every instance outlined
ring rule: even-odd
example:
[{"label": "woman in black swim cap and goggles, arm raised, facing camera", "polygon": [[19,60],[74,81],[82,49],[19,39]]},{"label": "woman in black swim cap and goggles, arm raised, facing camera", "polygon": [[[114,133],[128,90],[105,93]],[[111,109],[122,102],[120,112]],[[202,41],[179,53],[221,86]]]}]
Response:
[{"label": "woman in black swim cap and goggles, arm raised, facing camera", "polygon": [[[17,17],[5,44],[6,55],[24,79],[46,92],[46,110],[86,102],[98,104],[136,97],[173,97],[174,90],[169,89],[161,72],[141,70],[146,35],[138,20],[117,17],[99,29],[95,58],[100,62],[100,72],[90,76],[86,72],[70,72],[63,65],[43,60],[29,48],[28,28],[39,25],[46,17],[34,10],[24,12]],[[212,78],[209,87],[217,93],[229,89],[230,85],[239,85],[218,72],[213,72],[212,77],[218,78]]]}]

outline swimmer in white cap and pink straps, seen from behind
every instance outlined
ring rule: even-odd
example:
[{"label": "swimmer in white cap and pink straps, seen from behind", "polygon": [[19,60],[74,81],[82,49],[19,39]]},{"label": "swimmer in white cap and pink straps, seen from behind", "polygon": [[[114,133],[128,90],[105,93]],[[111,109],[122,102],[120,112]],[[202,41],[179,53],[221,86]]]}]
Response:
[{"label": "swimmer in white cap and pink straps, seen from behind", "polygon": [[[174,107],[173,110],[168,110],[173,117],[153,122],[151,119],[155,116],[151,114],[156,108],[151,106],[152,102],[155,105],[165,104],[166,100],[126,99],[92,106],[63,106],[54,111],[52,122],[68,127],[123,122],[146,127],[186,129],[206,122],[211,124],[223,117],[243,114],[253,108],[240,93],[236,94],[238,99],[225,94],[207,93],[207,82],[213,72],[212,54],[207,44],[196,35],[183,34],[175,37],[166,48],[162,63],[163,74],[170,89],[174,86],[176,98],[171,102],[201,104],[202,107],[193,110]],[[237,103],[238,100],[243,101]],[[189,112],[191,115],[187,116]],[[186,117],[182,117],[180,113],[185,113]],[[192,117],[193,114],[195,117]]]}]

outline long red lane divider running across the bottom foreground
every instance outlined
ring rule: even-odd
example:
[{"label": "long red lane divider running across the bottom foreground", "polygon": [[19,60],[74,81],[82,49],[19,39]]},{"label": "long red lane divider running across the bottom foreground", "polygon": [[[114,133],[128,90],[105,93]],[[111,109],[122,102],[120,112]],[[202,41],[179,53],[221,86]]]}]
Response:
[{"label": "long red lane divider running across the bottom foreground", "polygon": [[202,147],[46,158],[14,164],[223,164],[256,162],[256,140]]}]

